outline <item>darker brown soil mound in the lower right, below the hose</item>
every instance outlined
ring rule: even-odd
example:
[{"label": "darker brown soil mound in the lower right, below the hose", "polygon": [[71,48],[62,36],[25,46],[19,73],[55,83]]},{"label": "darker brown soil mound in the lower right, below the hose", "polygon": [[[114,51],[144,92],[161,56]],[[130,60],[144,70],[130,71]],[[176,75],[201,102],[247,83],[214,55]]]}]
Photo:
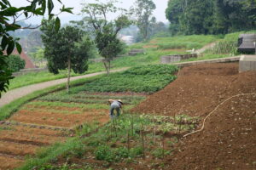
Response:
[{"label": "darker brown soil mound in the lower right, below the hose", "polygon": [[256,95],[231,99],[206,127],[183,139],[166,159],[170,169],[256,169]]}]

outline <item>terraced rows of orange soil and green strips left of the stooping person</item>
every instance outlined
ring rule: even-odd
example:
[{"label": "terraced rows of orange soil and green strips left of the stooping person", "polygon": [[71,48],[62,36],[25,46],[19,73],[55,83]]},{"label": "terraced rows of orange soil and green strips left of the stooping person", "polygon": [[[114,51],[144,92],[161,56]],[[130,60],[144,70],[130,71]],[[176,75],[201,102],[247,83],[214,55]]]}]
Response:
[{"label": "terraced rows of orange soil and green strips left of the stooping person", "polygon": [[[62,143],[76,135],[76,127],[109,121],[108,99],[122,99],[130,109],[143,94],[49,94],[23,105],[0,122],[0,169],[19,167],[41,147]],[[68,99],[68,100],[67,100]],[[3,163],[4,162],[4,163]]]}]

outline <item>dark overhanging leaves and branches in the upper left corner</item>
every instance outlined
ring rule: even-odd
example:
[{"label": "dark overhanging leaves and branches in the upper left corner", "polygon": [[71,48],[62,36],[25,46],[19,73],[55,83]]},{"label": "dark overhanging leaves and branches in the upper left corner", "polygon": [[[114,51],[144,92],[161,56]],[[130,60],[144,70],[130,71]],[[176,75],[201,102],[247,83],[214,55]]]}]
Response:
[{"label": "dark overhanging leaves and branches in the upper left corner", "polygon": [[[9,31],[17,31],[20,29],[34,29],[32,26],[20,26],[20,20],[26,20],[33,15],[48,14],[49,19],[54,18],[56,15],[53,13],[54,3],[52,0],[30,0],[29,5],[20,8],[13,7],[9,0],[0,1],[0,37],[1,51],[0,51],[0,97],[3,91],[6,91],[9,86],[9,79],[12,77],[12,71],[9,69],[8,64],[4,61],[7,55],[11,54],[14,48],[17,48],[21,53],[21,46],[18,43],[19,38],[12,37]],[[58,0],[61,3],[61,0]],[[61,12],[72,13],[72,8],[65,8],[63,5]],[[22,19],[20,19],[23,17]],[[58,30],[61,26],[61,21],[58,17],[55,18],[55,29]],[[4,53],[6,51],[6,54]]]}]

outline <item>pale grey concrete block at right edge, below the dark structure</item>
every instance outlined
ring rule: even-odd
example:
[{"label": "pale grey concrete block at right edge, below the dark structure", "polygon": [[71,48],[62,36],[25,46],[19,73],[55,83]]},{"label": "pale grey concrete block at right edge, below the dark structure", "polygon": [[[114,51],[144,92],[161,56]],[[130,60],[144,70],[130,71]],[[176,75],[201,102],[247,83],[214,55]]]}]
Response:
[{"label": "pale grey concrete block at right edge, below the dark structure", "polygon": [[239,72],[256,71],[256,55],[242,55],[239,61]]}]

